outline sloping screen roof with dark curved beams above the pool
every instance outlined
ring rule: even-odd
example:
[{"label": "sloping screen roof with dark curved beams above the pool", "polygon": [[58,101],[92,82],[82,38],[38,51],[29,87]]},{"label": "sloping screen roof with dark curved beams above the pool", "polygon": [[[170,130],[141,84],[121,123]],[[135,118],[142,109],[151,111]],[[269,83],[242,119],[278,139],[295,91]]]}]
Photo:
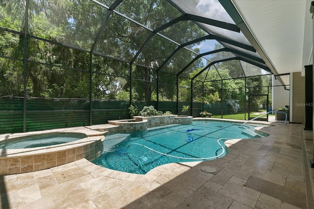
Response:
[{"label": "sloping screen roof with dark curved beams above the pool", "polygon": [[[34,24],[49,30],[44,26],[49,22],[63,31],[57,40],[44,32],[34,37],[43,41],[190,79],[209,69],[225,70],[214,69],[217,64],[236,72],[233,78],[271,73],[219,0],[65,0],[51,8],[47,2],[31,2],[32,15],[51,13]],[[68,11],[67,3],[76,3],[80,15]],[[21,17],[22,29],[0,29],[24,30]]]}]

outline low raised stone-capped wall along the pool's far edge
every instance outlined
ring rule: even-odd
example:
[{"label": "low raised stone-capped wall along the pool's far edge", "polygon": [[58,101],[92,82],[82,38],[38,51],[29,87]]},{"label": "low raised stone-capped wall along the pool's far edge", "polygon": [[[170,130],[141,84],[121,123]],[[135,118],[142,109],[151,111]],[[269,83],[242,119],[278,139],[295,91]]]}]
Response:
[{"label": "low raised stone-capped wall along the pool's far edge", "polygon": [[108,123],[118,125],[120,132],[133,132],[160,125],[190,124],[192,116],[133,116],[133,120],[109,120]]}]

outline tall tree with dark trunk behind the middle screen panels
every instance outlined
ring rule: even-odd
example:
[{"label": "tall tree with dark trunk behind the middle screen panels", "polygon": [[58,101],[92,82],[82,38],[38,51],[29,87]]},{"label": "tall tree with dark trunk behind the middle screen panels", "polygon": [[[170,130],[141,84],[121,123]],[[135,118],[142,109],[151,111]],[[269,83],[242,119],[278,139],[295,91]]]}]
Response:
[{"label": "tall tree with dark trunk behind the middle screen panels", "polygon": [[[144,24],[152,29],[156,29],[157,27],[182,15],[181,12],[164,0],[124,1],[121,5],[119,5],[118,10],[128,17],[134,18],[134,20],[138,23]],[[133,55],[134,52],[136,52],[143,45],[144,40],[150,33],[147,30],[143,30],[142,27],[117,16],[114,16],[113,19],[110,20],[110,23],[106,25],[104,31],[104,37],[102,40],[104,40],[104,42],[109,41],[111,46],[115,46],[114,48],[119,48],[119,50],[114,50],[110,47],[110,50],[112,50],[110,51],[110,55],[116,54],[115,56],[118,56],[116,51],[122,51],[119,58],[126,60],[130,60],[132,58],[131,55]],[[193,40],[195,37],[199,37],[200,34],[205,35],[205,32],[196,24],[190,24],[188,21],[168,27],[163,31],[160,31],[160,33],[166,34],[167,37],[170,37],[180,43]],[[182,33],[185,33],[185,35],[182,36]],[[105,46],[107,45],[106,43]],[[152,69],[157,69],[157,67],[163,63],[167,56],[169,56],[176,47],[177,45],[160,37],[159,35],[152,37],[143,47],[141,53],[135,60],[135,63],[144,65],[146,68],[136,67],[134,73],[140,74],[141,76],[138,77],[141,77],[144,82],[132,81],[135,92],[137,94],[144,94],[143,97],[139,96],[138,99],[151,101],[152,90],[154,89],[151,84],[156,81],[157,78],[157,72]],[[182,52],[178,53],[180,54]],[[167,65],[171,65],[174,71],[179,72],[183,69],[183,67],[185,67],[185,65],[179,65],[183,63],[187,64],[191,60],[192,58],[189,54],[182,53],[181,60],[174,60],[172,58]],[[162,82],[168,81],[169,80],[165,79]],[[173,82],[175,81],[172,81],[172,84],[174,84]],[[172,97],[170,94],[167,96],[169,96],[170,99]]]}]

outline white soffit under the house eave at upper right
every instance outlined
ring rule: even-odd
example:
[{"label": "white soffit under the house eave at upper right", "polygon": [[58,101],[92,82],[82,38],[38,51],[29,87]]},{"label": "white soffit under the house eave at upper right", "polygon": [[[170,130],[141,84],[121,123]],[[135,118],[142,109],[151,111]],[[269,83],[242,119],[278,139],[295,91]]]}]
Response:
[{"label": "white soffit under the house eave at upper right", "polygon": [[[312,18],[309,9],[311,1],[233,0],[242,19],[279,74],[301,71],[304,63],[309,62],[313,42],[312,22],[305,19]],[[305,30],[305,23],[310,24],[307,25],[310,30]],[[305,31],[310,31],[311,36],[306,35]]]}]

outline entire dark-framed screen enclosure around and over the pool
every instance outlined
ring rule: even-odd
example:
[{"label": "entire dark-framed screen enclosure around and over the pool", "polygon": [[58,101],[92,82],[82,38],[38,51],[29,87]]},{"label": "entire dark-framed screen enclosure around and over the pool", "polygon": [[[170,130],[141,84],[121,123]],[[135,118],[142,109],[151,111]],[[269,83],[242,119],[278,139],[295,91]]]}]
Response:
[{"label": "entire dark-framed screen enclosure around and over the pool", "polygon": [[0,0],[0,133],[127,119],[131,104],[248,119],[274,72],[240,22],[230,0]]}]

